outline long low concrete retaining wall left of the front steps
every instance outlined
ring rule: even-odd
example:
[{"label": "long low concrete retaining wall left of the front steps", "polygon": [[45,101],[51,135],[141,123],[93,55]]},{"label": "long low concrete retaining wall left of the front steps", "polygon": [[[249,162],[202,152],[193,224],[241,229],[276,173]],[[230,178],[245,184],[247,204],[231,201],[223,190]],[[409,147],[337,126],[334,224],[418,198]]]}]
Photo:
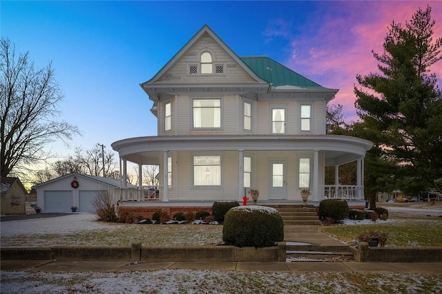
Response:
[{"label": "long low concrete retaining wall left of the front steps", "polygon": [[284,262],[285,242],[254,248],[234,246],[2,248],[1,260],[100,260],[142,262]]}]

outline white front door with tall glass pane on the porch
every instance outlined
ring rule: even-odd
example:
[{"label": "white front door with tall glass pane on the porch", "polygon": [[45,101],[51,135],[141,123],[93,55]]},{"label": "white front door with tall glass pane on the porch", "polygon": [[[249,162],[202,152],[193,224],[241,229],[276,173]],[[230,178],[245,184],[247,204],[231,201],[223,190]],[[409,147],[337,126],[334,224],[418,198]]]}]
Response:
[{"label": "white front door with tall glass pane on the porch", "polygon": [[287,162],[271,160],[269,199],[287,199]]}]

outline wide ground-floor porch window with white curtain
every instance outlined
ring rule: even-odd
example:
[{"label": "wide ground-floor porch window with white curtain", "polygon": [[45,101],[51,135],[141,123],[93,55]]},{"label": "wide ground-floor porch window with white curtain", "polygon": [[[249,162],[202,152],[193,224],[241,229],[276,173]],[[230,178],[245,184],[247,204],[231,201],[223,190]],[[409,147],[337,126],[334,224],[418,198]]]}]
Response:
[{"label": "wide ground-floor porch window with white curtain", "polygon": [[193,185],[221,185],[221,156],[193,156]]}]

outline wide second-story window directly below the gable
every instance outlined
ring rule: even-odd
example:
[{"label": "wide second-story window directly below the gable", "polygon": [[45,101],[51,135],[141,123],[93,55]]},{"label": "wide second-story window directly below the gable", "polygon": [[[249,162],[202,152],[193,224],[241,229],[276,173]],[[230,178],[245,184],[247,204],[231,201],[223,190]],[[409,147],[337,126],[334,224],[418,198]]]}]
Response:
[{"label": "wide second-story window directly below the gable", "polygon": [[193,127],[195,128],[221,127],[221,100],[194,99]]}]

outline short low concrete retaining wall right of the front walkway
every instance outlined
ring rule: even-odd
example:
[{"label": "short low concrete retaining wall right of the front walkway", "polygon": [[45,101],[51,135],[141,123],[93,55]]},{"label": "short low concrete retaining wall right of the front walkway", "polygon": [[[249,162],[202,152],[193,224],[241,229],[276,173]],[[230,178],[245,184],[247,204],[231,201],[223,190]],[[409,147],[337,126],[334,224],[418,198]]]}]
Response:
[{"label": "short low concrete retaining wall right of the front walkway", "polygon": [[358,262],[442,262],[442,247],[350,247]]}]

